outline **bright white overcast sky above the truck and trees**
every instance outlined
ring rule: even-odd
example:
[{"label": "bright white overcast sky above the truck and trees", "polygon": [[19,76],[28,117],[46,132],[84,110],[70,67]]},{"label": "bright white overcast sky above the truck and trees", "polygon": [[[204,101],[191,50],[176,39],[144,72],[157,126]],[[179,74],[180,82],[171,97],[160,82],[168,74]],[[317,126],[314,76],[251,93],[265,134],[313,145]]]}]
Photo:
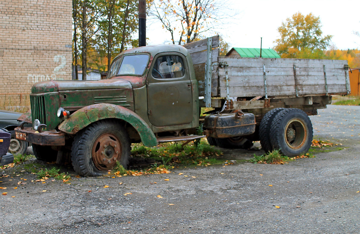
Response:
[{"label": "bright white overcast sky above the truck and trees", "polygon": [[[219,0],[221,1],[221,0]],[[360,48],[360,0],[228,0],[235,17],[224,20],[220,30],[230,47],[273,48],[279,37],[281,23],[294,13],[319,16],[323,35],[333,35],[332,43],[338,49]],[[164,43],[170,34],[161,25],[147,23],[149,45]]]}]

